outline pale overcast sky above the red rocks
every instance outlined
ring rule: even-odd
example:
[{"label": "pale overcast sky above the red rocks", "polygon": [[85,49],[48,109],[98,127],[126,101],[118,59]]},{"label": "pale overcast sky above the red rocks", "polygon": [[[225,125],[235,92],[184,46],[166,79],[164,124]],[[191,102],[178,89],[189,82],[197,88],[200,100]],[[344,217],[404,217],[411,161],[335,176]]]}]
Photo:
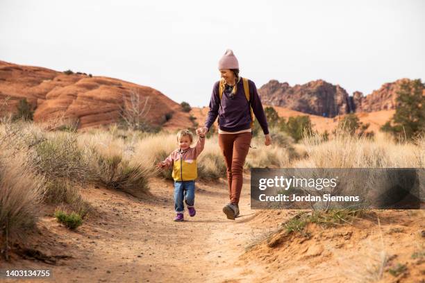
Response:
[{"label": "pale overcast sky above the red rocks", "polygon": [[425,1],[0,2],[0,60],[72,69],[208,105],[227,48],[257,87],[319,78],[369,94],[425,80]]}]

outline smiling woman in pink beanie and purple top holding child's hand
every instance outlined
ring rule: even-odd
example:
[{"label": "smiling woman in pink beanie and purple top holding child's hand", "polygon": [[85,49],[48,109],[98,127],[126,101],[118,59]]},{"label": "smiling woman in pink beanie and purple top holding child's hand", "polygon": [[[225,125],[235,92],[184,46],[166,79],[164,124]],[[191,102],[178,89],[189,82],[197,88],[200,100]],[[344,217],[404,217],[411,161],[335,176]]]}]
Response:
[{"label": "smiling woman in pink beanie and purple top holding child's hand", "polygon": [[239,76],[239,63],[233,51],[228,49],[224,53],[218,67],[222,78],[213,87],[208,117],[204,127],[198,128],[197,133],[204,135],[219,117],[218,140],[226,161],[230,198],[230,203],[223,207],[223,212],[228,219],[234,220],[239,215],[242,169],[251,144],[252,114],[255,114],[263,129],[265,145],[269,146],[272,139],[256,85]]}]

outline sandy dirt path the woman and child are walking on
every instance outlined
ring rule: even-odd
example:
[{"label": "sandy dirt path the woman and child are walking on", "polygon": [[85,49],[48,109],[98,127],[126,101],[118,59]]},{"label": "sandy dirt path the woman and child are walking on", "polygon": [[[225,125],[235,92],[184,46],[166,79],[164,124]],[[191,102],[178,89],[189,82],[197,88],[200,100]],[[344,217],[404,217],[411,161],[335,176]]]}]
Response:
[{"label": "sandy dirt path the woman and child are walking on", "polygon": [[237,260],[267,229],[249,225],[256,216],[250,209],[249,175],[242,189],[241,216],[235,221],[222,213],[228,201],[223,180],[197,182],[197,215],[191,218],[186,212],[183,223],[172,221],[172,182],[152,180],[151,194],[138,200],[108,189],[85,189],[83,196],[98,215],[76,232],[44,216],[40,225],[46,241],[34,243],[47,254],[71,259],[56,266],[20,260],[5,267],[51,268],[56,282],[252,282],[265,273],[261,266],[254,272],[252,265],[245,268]]}]

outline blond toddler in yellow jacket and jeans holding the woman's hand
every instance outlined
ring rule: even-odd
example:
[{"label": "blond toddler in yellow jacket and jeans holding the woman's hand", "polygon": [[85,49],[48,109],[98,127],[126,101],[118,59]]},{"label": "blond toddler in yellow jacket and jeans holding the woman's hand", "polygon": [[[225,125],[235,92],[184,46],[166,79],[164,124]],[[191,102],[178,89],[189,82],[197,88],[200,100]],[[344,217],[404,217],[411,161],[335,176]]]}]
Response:
[{"label": "blond toddler in yellow jacket and jeans holding the woman's hand", "polygon": [[176,217],[174,221],[183,221],[183,198],[190,217],[195,216],[194,209],[194,181],[198,176],[197,157],[203,150],[205,135],[199,134],[197,145],[193,148],[193,136],[189,130],[181,130],[177,133],[178,148],[173,151],[163,162],[156,164],[158,168],[173,168],[172,177],[174,179],[174,209]]}]

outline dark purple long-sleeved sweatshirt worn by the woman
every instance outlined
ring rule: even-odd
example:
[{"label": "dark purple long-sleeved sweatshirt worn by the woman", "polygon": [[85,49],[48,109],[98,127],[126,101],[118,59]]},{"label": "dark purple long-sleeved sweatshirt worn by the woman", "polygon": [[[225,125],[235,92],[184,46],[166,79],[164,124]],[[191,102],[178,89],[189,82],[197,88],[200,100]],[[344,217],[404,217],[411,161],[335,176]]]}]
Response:
[{"label": "dark purple long-sleeved sweatshirt worn by the woman", "polygon": [[[252,80],[248,80],[249,84],[249,104],[252,107],[253,114],[256,116],[258,123],[265,135],[269,133],[267,119],[258,96],[256,84]],[[221,104],[221,105],[220,105]],[[205,126],[210,129],[217,116],[219,117],[219,128],[226,132],[237,132],[239,130],[247,130],[251,127],[251,114],[249,104],[244,93],[244,84],[240,78],[237,85],[236,93],[231,99],[231,91],[224,88],[222,101],[219,98],[219,82],[214,84],[213,94],[211,94],[210,110],[205,121]]]}]

